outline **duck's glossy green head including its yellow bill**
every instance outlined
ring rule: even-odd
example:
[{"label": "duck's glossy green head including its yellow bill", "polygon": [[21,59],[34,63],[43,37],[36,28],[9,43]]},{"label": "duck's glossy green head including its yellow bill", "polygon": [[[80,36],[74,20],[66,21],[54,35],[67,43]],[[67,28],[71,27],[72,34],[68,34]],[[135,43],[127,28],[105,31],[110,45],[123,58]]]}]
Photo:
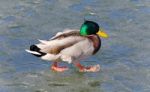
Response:
[{"label": "duck's glossy green head including its yellow bill", "polygon": [[85,21],[80,28],[80,35],[92,35],[98,34],[100,37],[108,38],[107,33],[105,33],[96,22],[93,21]]}]

